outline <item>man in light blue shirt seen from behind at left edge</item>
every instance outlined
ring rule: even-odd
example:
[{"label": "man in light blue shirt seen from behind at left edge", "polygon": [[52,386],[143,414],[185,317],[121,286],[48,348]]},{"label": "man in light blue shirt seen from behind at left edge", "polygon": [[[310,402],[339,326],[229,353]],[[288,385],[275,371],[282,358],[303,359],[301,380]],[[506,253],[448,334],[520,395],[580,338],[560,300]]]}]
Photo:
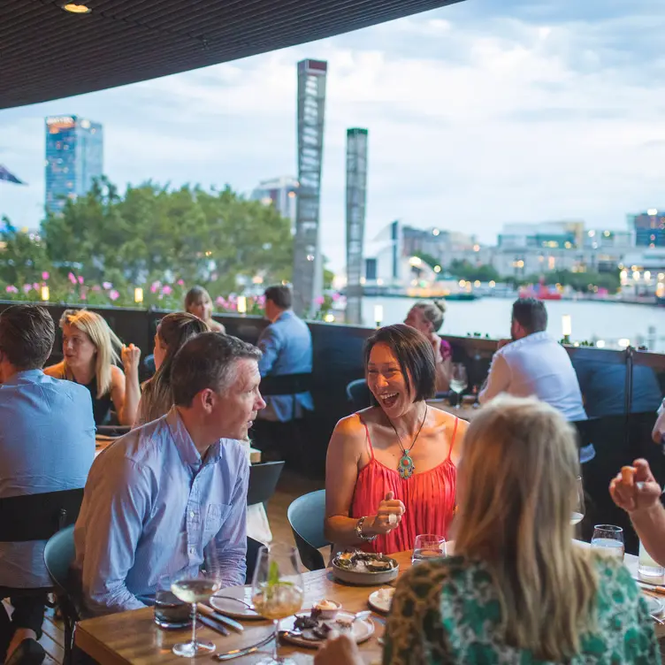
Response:
[{"label": "man in light blue shirt seen from behind at left edge", "polygon": [[[0,314],[0,498],[79,489],[95,458],[95,422],[85,386],[47,377],[56,339],[48,310],[14,305]],[[44,540],[0,542],[0,658],[40,663],[44,603],[52,586]],[[30,591],[32,590],[32,591]],[[6,659],[6,660],[5,660]]]}]

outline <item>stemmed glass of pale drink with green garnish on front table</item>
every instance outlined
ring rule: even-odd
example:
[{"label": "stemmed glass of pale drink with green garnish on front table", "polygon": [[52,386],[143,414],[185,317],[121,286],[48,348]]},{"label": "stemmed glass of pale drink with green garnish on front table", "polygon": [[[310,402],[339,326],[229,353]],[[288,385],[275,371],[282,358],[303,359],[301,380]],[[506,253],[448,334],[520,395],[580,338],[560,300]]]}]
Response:
[{"label": "stemmed glass of pale drink with green garnish on front table", "polygon": [[275,647],[272,657],[258,665],[293,663],[279,658],[279,620],[294,615],[302,608],[304,585],[300,557],[295,547],[267,545],[261,547],[252,580],[252,601],[256,612],[275,624]]}]

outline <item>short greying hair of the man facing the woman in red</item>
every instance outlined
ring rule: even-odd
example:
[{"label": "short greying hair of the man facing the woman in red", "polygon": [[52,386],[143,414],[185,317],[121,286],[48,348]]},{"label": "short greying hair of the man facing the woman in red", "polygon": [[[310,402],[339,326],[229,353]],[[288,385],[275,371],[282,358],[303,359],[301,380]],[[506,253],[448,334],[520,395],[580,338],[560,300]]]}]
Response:
[{"label": "short greying hair of the man facing the woman in red", "polygon": [[173,359],[173,403],[189,407],[202,390],[224,393],[236,380],[240,360],[261,358],[253,344],[224,333],[201,333],[188,340]]}]

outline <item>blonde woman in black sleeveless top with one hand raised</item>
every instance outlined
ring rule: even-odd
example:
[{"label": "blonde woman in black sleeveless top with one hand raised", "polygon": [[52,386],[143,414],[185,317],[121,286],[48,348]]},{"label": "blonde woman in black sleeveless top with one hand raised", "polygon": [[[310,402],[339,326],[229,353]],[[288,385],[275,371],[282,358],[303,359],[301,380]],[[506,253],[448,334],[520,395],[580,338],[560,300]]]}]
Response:
[{"label": "blonde woman in black sleeveless top with one hand raised", "polygon": [[[134,344],[124,346],[103,317],[89,310],[65,310],[60,317],[60,328],[65,357],[47,367],[44,373],[86,386],[92,398],[95,424],[108,421],[111,406],[116,410],[119,424],[133,424],[141,398],[141,350]],[[120,357],[124,371],[116,364]]]}]

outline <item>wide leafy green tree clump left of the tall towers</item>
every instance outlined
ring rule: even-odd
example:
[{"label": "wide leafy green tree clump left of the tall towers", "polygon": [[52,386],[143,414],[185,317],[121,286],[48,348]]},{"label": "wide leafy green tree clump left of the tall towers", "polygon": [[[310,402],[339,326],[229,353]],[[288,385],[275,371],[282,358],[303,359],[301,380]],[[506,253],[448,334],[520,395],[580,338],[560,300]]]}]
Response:
[{"label": "wide leafy green tree clump left of the tall towers", "polygon": [[50,258],[80,264],[86,281],[183,279],[228,293],[238,276],[291,277],[289,221],[230,187],[172,190],[146,182],[123,196],[103,178],[62,214],[48,215],[42,236]]}]

